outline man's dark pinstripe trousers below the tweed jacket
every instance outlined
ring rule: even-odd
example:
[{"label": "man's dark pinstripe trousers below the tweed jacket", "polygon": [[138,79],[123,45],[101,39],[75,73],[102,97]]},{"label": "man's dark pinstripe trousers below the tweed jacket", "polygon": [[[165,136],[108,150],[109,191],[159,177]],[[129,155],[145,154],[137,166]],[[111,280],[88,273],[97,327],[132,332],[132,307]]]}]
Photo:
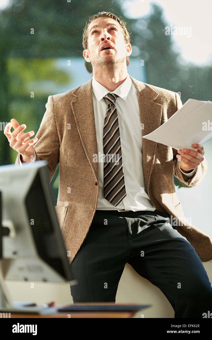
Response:
[{"label": "man's dark pinstripe trousers below the tweed jacket", "polygon": [[126,263],[157,286],[175,318],[212,312],[212,288],[194,247],[167,222],[165,212],[96,210],[71,263],[75,302],[115,302]]}]

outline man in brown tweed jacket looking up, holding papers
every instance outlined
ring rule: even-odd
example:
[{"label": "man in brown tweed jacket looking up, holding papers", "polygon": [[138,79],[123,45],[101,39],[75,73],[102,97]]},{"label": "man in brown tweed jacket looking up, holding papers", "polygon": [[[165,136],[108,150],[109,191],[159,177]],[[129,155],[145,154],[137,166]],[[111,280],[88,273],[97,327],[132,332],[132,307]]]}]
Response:
[{"label": "man in brown tweed jacket looking up, holding papers", "polygon": [[[60,164],[55,208],[78,281],[73,301],[115,302],[128,262],[161,289],[175,318],[202,318],[212,308],[201,262],[212,259],[212,241],[184,219],[173,170],[187,186],[198,185],[207,171],[204,149],[177,152],[142,139],[182,103],[177,93],[127,73],[132,49],[124,22],[106,12],[92,16],[83,47],[93,77],[49,96],[37,139],[16,120],[12,134],[10,123],[5,127],[16,165],[45,159],[51,182]],[[176,226],[168,223],[171,216]]]}]

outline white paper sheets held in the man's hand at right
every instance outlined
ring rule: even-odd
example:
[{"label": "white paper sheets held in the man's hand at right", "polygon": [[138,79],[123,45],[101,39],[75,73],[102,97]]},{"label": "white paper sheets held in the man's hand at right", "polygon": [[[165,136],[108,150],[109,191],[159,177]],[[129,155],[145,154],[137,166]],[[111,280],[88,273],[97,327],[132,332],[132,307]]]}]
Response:
[{"label": "white paper sheets held in the man's hand at right", "polygon": [[[204,122],[207,130],[203,128]],[[197,150],[192,147],[193,143],[203,144],[212,137],[210,122],[212,122],[212,102],[189,99],[167,122],[143,138],[177,150],[183,148]]]}]

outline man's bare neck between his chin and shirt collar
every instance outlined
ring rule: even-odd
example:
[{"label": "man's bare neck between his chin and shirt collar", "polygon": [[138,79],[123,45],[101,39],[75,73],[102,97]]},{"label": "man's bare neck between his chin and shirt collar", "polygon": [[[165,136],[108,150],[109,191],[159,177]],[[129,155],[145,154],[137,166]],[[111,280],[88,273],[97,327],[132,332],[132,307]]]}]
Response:
[{"label": "man's bare neck between his chin and shirt collar", "polygon": [[114,91],[118,86],[124,83],[128,76],[127,68],[121,72],[104,72],[103,70],[93,70],[93,76],[98,83],[107,88],[108,91]]}]

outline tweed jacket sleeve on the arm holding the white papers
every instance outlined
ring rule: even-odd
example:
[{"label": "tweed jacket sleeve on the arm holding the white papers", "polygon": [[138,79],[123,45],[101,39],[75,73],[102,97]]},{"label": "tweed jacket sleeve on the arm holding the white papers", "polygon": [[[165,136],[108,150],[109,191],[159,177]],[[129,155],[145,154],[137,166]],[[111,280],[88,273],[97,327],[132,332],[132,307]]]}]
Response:
[{"label": "tweed jacket sleeve on the arm holding the white papers", "polygon": [[[180,96],[177,92],[175,92],[175,112],[178,111],[182,107],[182,102]],[[173,171],[175,177],[177,177],[182,183],[187,186],[195,187],[197,186],[205,176],[208,168],[207,160],[204,157],[204,160],[200,163],[200,165],[196,168],[194,175],[191,178],[187,178],[179,168],[178,159],[176,155],[178,154],[177,150],[172,148],[173,151]]]}]

